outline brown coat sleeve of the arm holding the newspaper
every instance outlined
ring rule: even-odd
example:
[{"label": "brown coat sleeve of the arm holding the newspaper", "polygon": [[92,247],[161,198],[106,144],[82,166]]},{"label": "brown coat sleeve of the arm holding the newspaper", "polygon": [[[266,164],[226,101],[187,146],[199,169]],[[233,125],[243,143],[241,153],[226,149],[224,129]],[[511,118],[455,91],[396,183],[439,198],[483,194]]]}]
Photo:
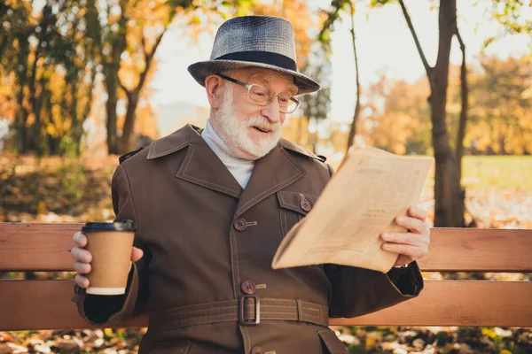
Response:
[{"label": "brown coat sleeve of the arm holding the newspaper", "polygon": [[[332,177],[332,166],[328,165]],[[325,265],[332,285],[329,317],[356,317],[377,312],[419,295],[423,277],[416,261],[387,273],[356,266]]]}]

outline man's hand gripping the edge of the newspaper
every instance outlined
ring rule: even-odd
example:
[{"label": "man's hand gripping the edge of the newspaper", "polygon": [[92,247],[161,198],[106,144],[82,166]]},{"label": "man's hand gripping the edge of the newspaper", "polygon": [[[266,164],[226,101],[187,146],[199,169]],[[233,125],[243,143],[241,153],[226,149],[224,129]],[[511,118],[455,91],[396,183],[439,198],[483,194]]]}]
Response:
[{"label": "man's hand gripping the edge of the newspaper", "polygon": [[395,223],[408,228],[409,232],[380,235],[386,241],[380,246],[383,250],[399,253],[394,266],[407,265],[426,255],[430,244],[430,228],[425,220],[426,210],[411,206],[407,215],[395,218]]}]

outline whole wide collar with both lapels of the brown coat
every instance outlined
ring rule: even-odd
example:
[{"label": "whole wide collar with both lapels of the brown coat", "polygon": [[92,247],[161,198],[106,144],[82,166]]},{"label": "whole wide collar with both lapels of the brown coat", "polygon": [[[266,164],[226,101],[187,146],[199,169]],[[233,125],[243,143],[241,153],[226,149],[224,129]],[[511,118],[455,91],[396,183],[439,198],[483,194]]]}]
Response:
[{"label": "whole wide collar with both lapels of the brown coat", "polygon": [[209,148],[199,131],[199,127],[189,124],[153,142],[146,159],[162,158],[188,147],[176,177],[238,198],[235,218],[307,173],[296,159],[290,156],[288,150],[308,158],[320,159],[309,150],[281,139],[268,155],[256,161],[246,189],[242,190],[239,182]]}]

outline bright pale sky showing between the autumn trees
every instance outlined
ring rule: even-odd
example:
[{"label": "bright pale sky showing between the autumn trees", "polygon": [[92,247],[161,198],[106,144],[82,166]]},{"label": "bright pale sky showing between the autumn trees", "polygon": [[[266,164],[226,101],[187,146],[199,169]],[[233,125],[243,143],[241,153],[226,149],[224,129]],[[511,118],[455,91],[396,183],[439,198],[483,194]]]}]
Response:
[{"label": "bright pale sky showing between the autumn trees", "polygon": [[[311,0],[312,6],[327,8],[330,1]],[[406,0],[419,42],[425,51],[429,65],[434,65],[438,46],[438,13],[431,10],[434,1]],[[469,65],[478,63],[483,42],[491,35],[497,35],[501,28],[489,19],[492,0],[458,0],[458,28],[466,46],[466,61]],[[356,48],[362,89],[377,81],[380,73],[395,80],[416,81],[425,75],[418,50],[398,4],[383,6],[371,11],[359,6],[356,9]],[[532,20],[530,6],[521,13]],[[355,67],[349,33],[348,17],[335,26],[332,34],[332,108],[329,119],[345,122],[352,119],[356,98]],[[507,36],[493,43],[485,51],[500,58],[520,56],[530,41],[524,35]],[[168,29],[157,51],[158,69],[151,87],[154,89],[155,110],[179,101],[207,106],[205,91],[192,79],[186,68],[194,62],[207,60],[214,42],[214,36],[203,34],[200,41],[190,45],[184,40],[184,32],[178,25]],[[450,62],[461,64],[462,54],[458,40],[453,39]],[[166,135],[170,132],[160,132]]]}]

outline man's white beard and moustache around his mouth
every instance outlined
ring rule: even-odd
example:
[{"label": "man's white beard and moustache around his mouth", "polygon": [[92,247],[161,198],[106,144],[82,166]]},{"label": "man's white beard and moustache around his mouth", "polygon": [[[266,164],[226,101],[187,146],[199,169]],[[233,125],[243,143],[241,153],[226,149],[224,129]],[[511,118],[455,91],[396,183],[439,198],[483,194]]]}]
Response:
[{"label": "man's white beard and moustache around his mouth", "polygon": [[[255,160],[262,158],[276,147],[281,137],[281,123],[272,124],[261,115],[246,117],[234,110],[232,104],[232,85],[225,88],[223,101],[215,112],[215,120],[221,132],[217,132],[237,158]],[[249,138],[249,127],[261,127],[270,130],[270,136],[254,142]],[[245,153],[243,153],[244,151]]]}]

